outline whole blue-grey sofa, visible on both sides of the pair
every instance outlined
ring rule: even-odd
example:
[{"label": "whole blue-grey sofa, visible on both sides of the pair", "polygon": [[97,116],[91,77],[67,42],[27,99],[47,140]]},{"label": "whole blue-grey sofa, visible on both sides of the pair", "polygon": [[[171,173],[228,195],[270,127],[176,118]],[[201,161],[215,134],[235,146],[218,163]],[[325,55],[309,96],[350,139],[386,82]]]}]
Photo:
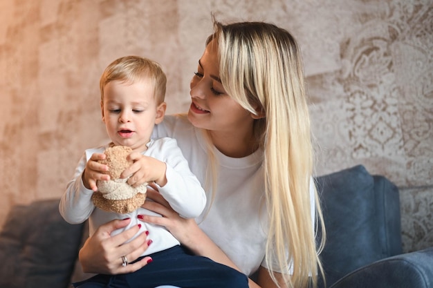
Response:
[{"label": "whole blue-grey sofa, visible on both sides of the pair", "polygon": [[[326,225],[320,288],[433,288],[433,247],[402,253],[394,184],[362,165],[315,180]],[[0,288],[68,288],[80,277],[86,224],[64,222],[58,203],[11,209],[0,232]]]}]

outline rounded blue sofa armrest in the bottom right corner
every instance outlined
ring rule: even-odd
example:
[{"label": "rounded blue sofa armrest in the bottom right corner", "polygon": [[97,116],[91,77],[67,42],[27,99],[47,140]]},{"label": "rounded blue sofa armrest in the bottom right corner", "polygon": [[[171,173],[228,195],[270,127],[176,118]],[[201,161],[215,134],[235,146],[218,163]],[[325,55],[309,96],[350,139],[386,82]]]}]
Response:
[{"label": "rounded blue sofa armrest in the bottom right corner", "polygon": [[378,260],[331,288],[433,288],[433,247]]}]

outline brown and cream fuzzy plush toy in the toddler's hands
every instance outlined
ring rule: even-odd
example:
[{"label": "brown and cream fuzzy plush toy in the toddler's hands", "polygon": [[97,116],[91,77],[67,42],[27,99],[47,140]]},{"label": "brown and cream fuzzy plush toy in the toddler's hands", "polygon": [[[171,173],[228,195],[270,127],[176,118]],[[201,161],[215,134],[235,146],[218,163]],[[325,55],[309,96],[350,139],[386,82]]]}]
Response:
[{"label": "brown and cream fuzzy plush toy in the toddler's hands", "polygon": [[131,152],[132,149],[127,146],[111,146],[105,149],[104,154],[107,157],[98,162],[109,166],[106,174],[110,175],[110,180],[96,182],[98,191],[92,195],[96,207],[104,211],[126,214],[135,211],[145,202],[147,183],[133,187],[127,183],[127,178],[120,178],[120,174],[132,164],[132,161],[127,160]]}]

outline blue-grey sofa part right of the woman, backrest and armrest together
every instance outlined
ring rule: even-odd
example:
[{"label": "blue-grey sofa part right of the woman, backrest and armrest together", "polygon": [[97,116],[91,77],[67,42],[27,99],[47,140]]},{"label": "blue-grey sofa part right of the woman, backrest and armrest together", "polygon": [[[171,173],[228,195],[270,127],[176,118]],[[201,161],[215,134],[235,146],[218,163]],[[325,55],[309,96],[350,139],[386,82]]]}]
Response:
[{"label": "blue-grey sofa part right of the woman, backrest and armrest together", "polygon": [[433,288],[433,247],[402,251],[392,182],[358,165],[316,183],[326,227],[320,288]]}]

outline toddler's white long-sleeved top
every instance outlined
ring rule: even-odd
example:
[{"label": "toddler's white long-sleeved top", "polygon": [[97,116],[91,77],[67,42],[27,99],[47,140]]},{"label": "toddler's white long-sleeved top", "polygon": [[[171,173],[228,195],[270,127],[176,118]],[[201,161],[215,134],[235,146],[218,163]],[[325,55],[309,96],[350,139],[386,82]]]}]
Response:
[{"label": "toddler's white long-sleeved top", "polygon": [[[167,184],[158,187],[159,192],[170,206],[184,218],[196,218],[203,211],[206,203],[205,191],[201,188],[199,180],[192,174],[188,162],[183,157],[181,149],[177,146],[176,140],[164,137],[158,140],[151,140],[147,145],[147,151],[143,155],[154,157],[167,164]],[[59,211],[63,218],[71,223],[82,223],[89,218],[89,234],[93,235],[101,225],[113,219],[131,218],[129,227],[140,223],[140,232],[149,231],[148,238],[153,241],[149,249],[142,256],[162,251],[180,244],[167,229],[138,221],[138,214],[158,215],[147,209],[138,208],[136,211],[127,214],[117,214],[102,211],[93,205],[91,195],[93,191],[86,189],[82,182],[82,173],[87,161],[93,153],[104,153],[106,146],[87,149],[75,169],[73,180],[68,182],[66,192],[59,204]],[[148,200],[147,200],[148,201]],[[116,230],[113,235],[125,229]]]}]

